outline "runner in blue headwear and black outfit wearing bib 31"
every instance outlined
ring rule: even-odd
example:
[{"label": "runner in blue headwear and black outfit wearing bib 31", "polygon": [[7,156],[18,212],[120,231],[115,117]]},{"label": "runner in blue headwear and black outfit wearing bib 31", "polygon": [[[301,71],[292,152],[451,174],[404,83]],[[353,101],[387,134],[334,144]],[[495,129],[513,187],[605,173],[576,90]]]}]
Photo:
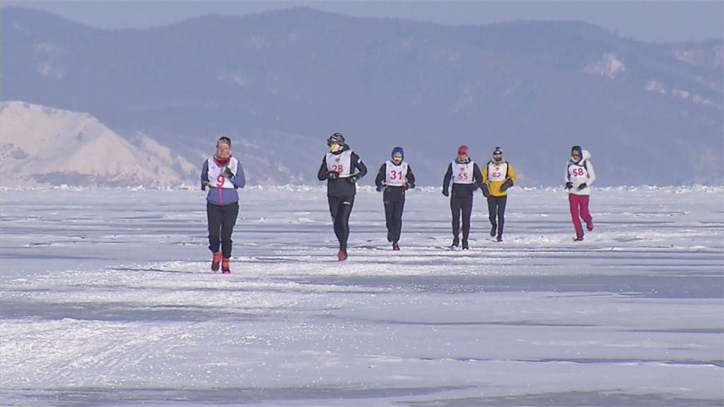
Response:
[{"label": "runner in blue headwear and black outfit wearing bib 31", "polygon": [[410,165],[404,161],[405,151],[402,147],[392,148],[392,160],[379,167],[374,180],[377,191],[383,191],[384,217],[387,221],[387,241],[392,243],[392,250],[400,250],[400,233],[403,228],[403,211],[405,209],[405,191],[415,188],[415,175]]}]

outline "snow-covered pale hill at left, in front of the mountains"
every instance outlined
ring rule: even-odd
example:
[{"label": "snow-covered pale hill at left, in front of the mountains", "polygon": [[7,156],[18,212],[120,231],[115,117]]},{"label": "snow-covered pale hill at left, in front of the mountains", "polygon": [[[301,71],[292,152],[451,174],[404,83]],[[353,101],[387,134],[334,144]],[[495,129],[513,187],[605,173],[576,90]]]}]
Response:
[{"label": "snow-covered pale hill at left, in front of the mountains", "polygon": [[0,106],[0,183],[144,185],[190,182],[195,166],[138,133],[126,140],[86,113],[19,101]]}]

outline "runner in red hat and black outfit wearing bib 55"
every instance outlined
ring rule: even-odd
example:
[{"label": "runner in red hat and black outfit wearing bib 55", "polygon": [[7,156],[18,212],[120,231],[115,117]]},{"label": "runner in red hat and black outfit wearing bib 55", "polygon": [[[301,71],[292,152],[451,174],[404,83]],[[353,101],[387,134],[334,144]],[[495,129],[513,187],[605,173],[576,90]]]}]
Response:
[{"label": "runner in red hat and black outfit wearing bib 55", "polygon": [[[452,182],[452,194],[450,193]],[[460,245],[460,214],[463,216],[463,249],[468,249],[473,193],[483,184],[480,168],[468,156],[468,146],[458,148],[458,157],[447,166],[442,179],[442,195],[450,196],[452,211],[452,247]]]}]

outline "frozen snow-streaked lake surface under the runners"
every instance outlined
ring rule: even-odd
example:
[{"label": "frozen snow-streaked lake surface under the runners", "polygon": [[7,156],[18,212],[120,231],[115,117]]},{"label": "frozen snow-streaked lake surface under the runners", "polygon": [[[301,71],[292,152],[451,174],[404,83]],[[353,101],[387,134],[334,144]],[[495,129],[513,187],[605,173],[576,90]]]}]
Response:
[{"label": "frozen snow-streaked lake surface under the runners", "polygon": [[231,275],[201,191],[2,190],[0,404],[722,406],[724,190],[476,196],[452,251],[439,191],[402,251],[358,193],[350,259],[319,188],[242,194]]}]

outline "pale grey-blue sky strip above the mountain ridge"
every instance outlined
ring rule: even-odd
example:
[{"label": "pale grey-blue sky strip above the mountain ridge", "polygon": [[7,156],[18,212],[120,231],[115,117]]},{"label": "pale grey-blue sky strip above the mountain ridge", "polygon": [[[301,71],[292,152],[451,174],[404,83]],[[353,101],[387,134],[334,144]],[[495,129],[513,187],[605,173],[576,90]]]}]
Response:
[{"label": "pale grey-blue sky strip above the mountain ridge", "polygon": [[250,14],[308,6],[355,17],[447,25],[513,20],[578,20],[642,41],[724,38],[724,1],[36,1],[8,0],[98,28],[146,28],[202,14]]}]

